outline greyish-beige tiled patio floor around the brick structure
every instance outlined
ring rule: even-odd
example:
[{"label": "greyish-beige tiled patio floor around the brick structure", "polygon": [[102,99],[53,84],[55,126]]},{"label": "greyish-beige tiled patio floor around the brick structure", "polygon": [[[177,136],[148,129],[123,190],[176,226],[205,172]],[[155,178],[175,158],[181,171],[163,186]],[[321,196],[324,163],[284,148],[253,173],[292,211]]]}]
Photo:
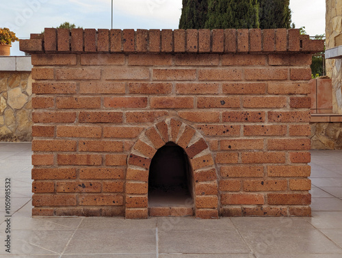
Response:
[{"label": "greyish-beige tiled patio floor around the brick structure", "polygon": [[[342,151],[312,151],[312,218],[31,218],[31,144],[0,143],[0,258],[341,258]],[[5,252],[5,178],[12,182]]]}]

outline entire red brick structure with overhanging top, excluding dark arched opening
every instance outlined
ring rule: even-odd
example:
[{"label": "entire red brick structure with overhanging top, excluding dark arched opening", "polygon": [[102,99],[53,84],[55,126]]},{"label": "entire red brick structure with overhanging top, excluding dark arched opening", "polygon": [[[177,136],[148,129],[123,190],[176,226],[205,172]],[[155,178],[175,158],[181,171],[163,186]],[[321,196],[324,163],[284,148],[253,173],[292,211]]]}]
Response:
[{"label": "entire red brick structure with overhanging top, excluding dark arched opening", "polygon": [[[33,215],[148,216],[174,141],[195,215],[309,216],[311,54],[298,29],[45,29],[32,54]],[[170,215],[170,214],[168,214]]]}]

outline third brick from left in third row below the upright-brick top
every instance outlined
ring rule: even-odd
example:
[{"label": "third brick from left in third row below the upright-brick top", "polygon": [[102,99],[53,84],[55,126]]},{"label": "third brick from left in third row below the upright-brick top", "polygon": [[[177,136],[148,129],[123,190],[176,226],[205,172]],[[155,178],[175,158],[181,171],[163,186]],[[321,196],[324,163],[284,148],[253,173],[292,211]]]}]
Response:
[{"label": "third brick from left in third row below the upright-brick top", "polygon": [[168,94],[172,83],[128,83],[130,94]]}]

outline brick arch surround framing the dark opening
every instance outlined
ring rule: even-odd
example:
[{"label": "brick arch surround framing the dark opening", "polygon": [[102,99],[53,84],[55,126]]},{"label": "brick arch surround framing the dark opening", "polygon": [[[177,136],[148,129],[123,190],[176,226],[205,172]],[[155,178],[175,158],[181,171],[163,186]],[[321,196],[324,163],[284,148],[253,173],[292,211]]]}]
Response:
[{"label": "brick arch surround framing the dark opening", "polygon": [[218,178],[213,155],[196,129],[174,118],[146,129],[133,146],[126,174],[126,218],[148,217],[148,169],[166,142],[178,144],[189,157],[196,218],[218,218]]}]

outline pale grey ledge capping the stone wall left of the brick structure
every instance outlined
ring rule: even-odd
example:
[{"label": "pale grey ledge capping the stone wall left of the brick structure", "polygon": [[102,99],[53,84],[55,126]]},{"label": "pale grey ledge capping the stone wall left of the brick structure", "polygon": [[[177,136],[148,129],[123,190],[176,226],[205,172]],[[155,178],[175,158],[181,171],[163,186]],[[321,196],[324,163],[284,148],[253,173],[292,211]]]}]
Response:
[{"label": "pale grey ledge capping the stone wall left of the brick structure", "polygon": [[3,71],[31,71],[30,56],[2,56],[0,57],[0,70]]}]

